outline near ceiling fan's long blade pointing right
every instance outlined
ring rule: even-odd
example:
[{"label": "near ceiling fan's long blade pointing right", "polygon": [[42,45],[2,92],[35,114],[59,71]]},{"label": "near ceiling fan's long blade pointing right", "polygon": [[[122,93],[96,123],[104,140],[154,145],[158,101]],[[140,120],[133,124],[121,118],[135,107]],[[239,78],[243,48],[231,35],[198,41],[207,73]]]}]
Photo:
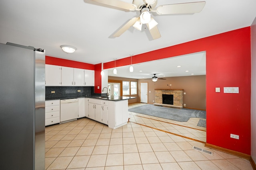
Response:
[{"label": "near ceiling fan's long blade pointing right", "polygon": [[189,2],[182,4],[161,5],[156,8],[156,13],[159,15],[164,14],[192,14],[201,12],[204,8],[205,1],[202,2]]}]

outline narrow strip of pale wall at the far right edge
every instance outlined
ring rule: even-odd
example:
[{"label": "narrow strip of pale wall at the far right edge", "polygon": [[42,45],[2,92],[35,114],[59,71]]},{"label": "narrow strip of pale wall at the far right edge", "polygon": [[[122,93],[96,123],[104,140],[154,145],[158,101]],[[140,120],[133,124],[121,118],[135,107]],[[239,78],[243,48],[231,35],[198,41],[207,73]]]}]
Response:
[{"label": "narrow strip of pale wall at the far right edge", "polygon": [[251,156],[256,162],[256,18],[251,25],[252,83],[251,83]]}]

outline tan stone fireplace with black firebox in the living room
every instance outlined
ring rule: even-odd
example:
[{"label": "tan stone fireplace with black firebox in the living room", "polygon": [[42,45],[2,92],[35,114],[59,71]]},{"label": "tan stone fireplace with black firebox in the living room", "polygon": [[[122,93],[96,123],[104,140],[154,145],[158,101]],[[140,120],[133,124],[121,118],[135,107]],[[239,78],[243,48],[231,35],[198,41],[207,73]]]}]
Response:
[{"label": "tan stone fireplace with black firebox in the living room", "polygon": [[[173,104],[164,104],[163,96],[173,95]],[[170,97],[170,96],[169,96]],[[183,89],[155,89],[154,105],[182,108],[183,107]],[[170,101],[168,101],[170,102]]]}]

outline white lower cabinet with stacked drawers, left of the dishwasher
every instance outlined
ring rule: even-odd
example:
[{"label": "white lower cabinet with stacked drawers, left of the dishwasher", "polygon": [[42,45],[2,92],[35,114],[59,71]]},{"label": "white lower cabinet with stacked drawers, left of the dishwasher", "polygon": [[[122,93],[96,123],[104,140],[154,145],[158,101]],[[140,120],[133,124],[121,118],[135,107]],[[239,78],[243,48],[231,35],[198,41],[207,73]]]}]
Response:
[{"label": "white lower cabinet with stacked drawers, left of the dishwasher", "polygon": [[45,102],[45,125],[60,123],[60,100]]}]

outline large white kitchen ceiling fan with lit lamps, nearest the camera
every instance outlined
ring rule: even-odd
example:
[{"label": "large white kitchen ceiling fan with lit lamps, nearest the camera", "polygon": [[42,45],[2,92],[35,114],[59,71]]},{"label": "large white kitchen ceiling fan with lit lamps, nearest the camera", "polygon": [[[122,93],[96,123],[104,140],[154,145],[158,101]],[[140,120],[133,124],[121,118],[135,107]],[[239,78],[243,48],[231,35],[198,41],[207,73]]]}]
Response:
[{"label": "large white kitchen ceiling fan with lit lamps, nearest the camera", "polygon": [[123,27],[121,27],[118,31],[116,31],[116,33],[114,33],[113,35],[114,37],[119,37],[131,26],[141,31],[142,24],[146,24],[153,39],[158,39],[161,37],[161,35],[158,30],[158,27],[156,26],[158,23],[151,16],[150,12],[156,12],[156,14],[158,15],[193,14],[193,13],[201,12],[201,10],[204,8],[204,5],[205,5],[205,1],[160,5],[158,7],[156,7],[157,0],[133,0],[132,4],[121,1],[121,0],[92,0],[92,1],[110,6],[112,8],[120,8],[122,10],[129,10],[129,11],[135,11],[135,10],[140,11],[140,16],[134,17],[131,20],[129,20],[127,23],[125,23]]}]

